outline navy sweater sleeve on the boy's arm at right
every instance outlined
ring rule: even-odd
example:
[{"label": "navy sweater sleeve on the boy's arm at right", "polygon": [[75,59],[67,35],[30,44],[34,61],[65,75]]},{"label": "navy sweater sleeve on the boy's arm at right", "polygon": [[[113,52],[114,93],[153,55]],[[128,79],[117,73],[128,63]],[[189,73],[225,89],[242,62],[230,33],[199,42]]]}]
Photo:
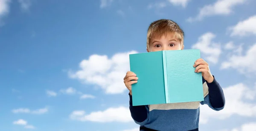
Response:
[{"label": "navy sweater sleeve on the boy's arm at right", "polygon": [[208,87],[208,94],[204,97],[204,101],[201,101],[201,104],[207,104],[211,109],[220,111],[225,106],[225,97],[220,84],[214,76],[213,78],[212,83],[208,83],[203,78],[203,85]]}]

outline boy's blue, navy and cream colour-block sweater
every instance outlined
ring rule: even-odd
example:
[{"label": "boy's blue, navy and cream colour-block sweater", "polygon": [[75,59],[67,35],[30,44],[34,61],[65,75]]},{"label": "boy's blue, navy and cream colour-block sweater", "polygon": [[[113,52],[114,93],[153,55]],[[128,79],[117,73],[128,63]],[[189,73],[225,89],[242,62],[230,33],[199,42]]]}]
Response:
[{"label": "boy's blue, navy and cream colour-block sweater", "polygon": [[[182,88],[182,87],[181,87]],[[208,83],[203,78],[204,101],[132,106],[131,117],[140,125],[140,131],[198,131],[200,103],[219,111],[224,108],[225,98],[218,82]]]}]

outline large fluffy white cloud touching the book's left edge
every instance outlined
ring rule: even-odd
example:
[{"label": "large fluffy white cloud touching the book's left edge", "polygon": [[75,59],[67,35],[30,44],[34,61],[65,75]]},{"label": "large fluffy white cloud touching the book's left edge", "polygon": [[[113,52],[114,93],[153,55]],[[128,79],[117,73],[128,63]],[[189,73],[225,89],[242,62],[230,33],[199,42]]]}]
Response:
[{"label": "large fluffy white cloud touching the book's left edge", "polygon": [[80,62],[80,70],[70,71],[69,76],[86,84],[96,84],[107,94],[122,93],[127,89],[123,78],[130,70],[129,54],[133,53],[137,52],[116,53],[110,59],[106,55],[91,55]]}]

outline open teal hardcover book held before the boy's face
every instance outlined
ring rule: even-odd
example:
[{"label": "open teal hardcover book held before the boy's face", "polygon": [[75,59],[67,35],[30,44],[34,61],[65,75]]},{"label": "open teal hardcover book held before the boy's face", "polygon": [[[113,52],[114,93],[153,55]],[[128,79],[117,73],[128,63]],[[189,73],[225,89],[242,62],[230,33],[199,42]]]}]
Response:
[{"label": "open teal hardcover book held before the boy's face", "polygon": [[133,106],[204,100],[202,74],[195,72],[200,50],[163,50],[130,54]]}]

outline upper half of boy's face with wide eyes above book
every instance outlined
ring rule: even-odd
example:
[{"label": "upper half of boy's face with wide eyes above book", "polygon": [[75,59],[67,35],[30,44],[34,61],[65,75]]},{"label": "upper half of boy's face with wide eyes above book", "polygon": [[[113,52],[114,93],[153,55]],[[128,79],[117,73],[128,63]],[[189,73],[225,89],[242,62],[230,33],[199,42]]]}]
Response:
[{"label": "upper half of boy's face with wide eyes above book", "polygon": [[148,52],[162,51],[162,50],[183,50],[184,46],[181,45],[180,41],[174,36],[169,34],[161,36],[160,39],[151,39],[149,43]]}]

